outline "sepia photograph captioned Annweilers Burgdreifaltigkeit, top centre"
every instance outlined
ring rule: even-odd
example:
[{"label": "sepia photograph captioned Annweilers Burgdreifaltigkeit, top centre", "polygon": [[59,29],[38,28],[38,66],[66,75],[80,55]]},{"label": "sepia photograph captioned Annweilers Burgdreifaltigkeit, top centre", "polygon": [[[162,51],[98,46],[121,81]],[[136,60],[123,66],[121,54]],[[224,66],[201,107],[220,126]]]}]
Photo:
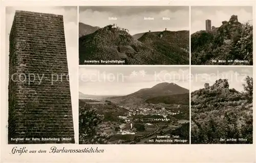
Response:
[{"label": "sepia photograph captioned Annweilers Burgdreifaltigkeit, top centre", "polygon": [[80,6],[79,64],[188,65],[188,6]]}]

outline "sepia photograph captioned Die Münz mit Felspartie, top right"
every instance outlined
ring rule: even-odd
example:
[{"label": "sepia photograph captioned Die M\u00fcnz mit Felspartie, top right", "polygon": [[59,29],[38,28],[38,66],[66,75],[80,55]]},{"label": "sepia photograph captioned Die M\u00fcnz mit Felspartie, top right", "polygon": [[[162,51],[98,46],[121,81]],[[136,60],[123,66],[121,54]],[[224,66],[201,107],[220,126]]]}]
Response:
[{"label": "sepia photograph captioned Die M\u00fcnz mit Felspartie, top right", "polygon": [[252,6],[191,6],[191,64],[253,65]]}]

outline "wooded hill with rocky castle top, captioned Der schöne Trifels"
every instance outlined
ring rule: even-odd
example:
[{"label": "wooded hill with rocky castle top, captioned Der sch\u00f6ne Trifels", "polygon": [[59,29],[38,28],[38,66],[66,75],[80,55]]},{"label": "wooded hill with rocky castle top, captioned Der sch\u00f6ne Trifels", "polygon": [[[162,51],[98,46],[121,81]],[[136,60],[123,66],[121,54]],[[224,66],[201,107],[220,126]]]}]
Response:
[{"label": "wooded hill with rocky castle top, captioned Der sch\u00f6ne Trifels", "polygon": [[252,143],[252,78],[246,81],[245,92],[229,89],[226,79],[191,92],[191,143]]}]

